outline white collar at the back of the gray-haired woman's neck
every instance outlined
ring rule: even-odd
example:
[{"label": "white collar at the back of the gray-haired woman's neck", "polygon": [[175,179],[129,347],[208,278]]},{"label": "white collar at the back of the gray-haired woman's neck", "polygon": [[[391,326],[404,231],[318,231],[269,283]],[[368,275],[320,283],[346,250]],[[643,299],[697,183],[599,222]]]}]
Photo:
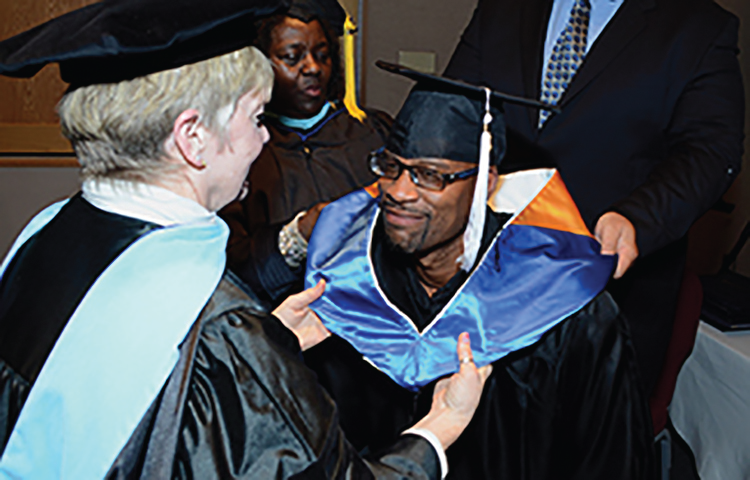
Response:
[{"label": "white collar at the back of the gray-haired woman's neck", "polygon": [[216,214],[165,188],[124,180],[86,180],[83,198],[105,212],[162,226],[216,221]]}]

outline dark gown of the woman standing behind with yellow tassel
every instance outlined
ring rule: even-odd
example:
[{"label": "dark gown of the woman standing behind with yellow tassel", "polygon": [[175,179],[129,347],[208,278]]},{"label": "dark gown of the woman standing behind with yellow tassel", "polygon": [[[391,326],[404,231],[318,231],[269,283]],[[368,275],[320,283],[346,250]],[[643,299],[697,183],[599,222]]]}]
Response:
[{"label": "dark gown of the woman standing behind with yellow tassel", "polygon": [[229,268],[263,300],[278,304],[302,288],[301,269],[290,269],[279,253],[281,227],[317,203],[375,182],[367,158],[383,145],[392,120],[367,114],[360,122],[336,105],[306,131],[267,119],[271,139],[250,169],[247,197],[220,212],[231,229]]}]

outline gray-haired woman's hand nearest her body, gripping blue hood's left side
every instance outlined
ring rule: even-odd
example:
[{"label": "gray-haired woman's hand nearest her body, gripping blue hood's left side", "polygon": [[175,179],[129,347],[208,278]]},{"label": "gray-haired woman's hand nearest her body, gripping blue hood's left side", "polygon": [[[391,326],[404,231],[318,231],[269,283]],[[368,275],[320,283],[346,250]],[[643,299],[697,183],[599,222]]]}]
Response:
[{"label": "gray-haired woman's hand nearest her body, gripping blue hood's left side", "polygon": [[323,295],[325,288],[326,282],[321,280],[312,288],[290,295],[273,311],[281,323],[297,336],[303,351],[314,347],[331,335],[318,315],[310,309],[310,304]]}]

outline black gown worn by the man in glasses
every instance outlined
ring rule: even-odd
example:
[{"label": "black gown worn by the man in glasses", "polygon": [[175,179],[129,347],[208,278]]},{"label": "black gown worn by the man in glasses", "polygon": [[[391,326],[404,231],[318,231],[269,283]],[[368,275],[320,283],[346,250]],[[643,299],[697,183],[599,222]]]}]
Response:
[{"label": "black gown worn by the man in glasses", "polygon": [[[484,247],[504,220],[489,214]],[[408,257],[376,228],[373,263],[386,296],[424,328],[456,294],[459,273],[428,297]],[[345,340],[305,352],[363,451],[384,447],[429,408],[434,384],[412,393]],[[503,480],[653,478],[649,410],[628,327],[605,292],[538,342],[493,364],[479,409],[448,449],[449,478]]]}]

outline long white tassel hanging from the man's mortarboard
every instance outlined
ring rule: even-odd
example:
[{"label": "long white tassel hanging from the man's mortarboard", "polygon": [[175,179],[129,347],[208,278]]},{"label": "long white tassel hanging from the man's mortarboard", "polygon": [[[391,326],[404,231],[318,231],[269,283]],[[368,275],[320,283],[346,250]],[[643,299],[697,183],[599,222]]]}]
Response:
[{"label": "long white tassel hanging from the man's mortarboard", "polygon": [[491,91],[488,88],[484,90],[486,100],[482,135],[479,138],[479,172],[477,173],[477,183],[474,186],[474,199],[471,203],[469,222],[466,224],[466,230],[464,231],[464,253],[458,259],[461,269],[465,272],[470,271],[474,262],[476,262],[479,247],[482,244],[484,222],[487,216],[487,183],[490,170],[490,151],[492,150],[492,134],[489,126],[492,122],[492,114],[490,113]]}]

